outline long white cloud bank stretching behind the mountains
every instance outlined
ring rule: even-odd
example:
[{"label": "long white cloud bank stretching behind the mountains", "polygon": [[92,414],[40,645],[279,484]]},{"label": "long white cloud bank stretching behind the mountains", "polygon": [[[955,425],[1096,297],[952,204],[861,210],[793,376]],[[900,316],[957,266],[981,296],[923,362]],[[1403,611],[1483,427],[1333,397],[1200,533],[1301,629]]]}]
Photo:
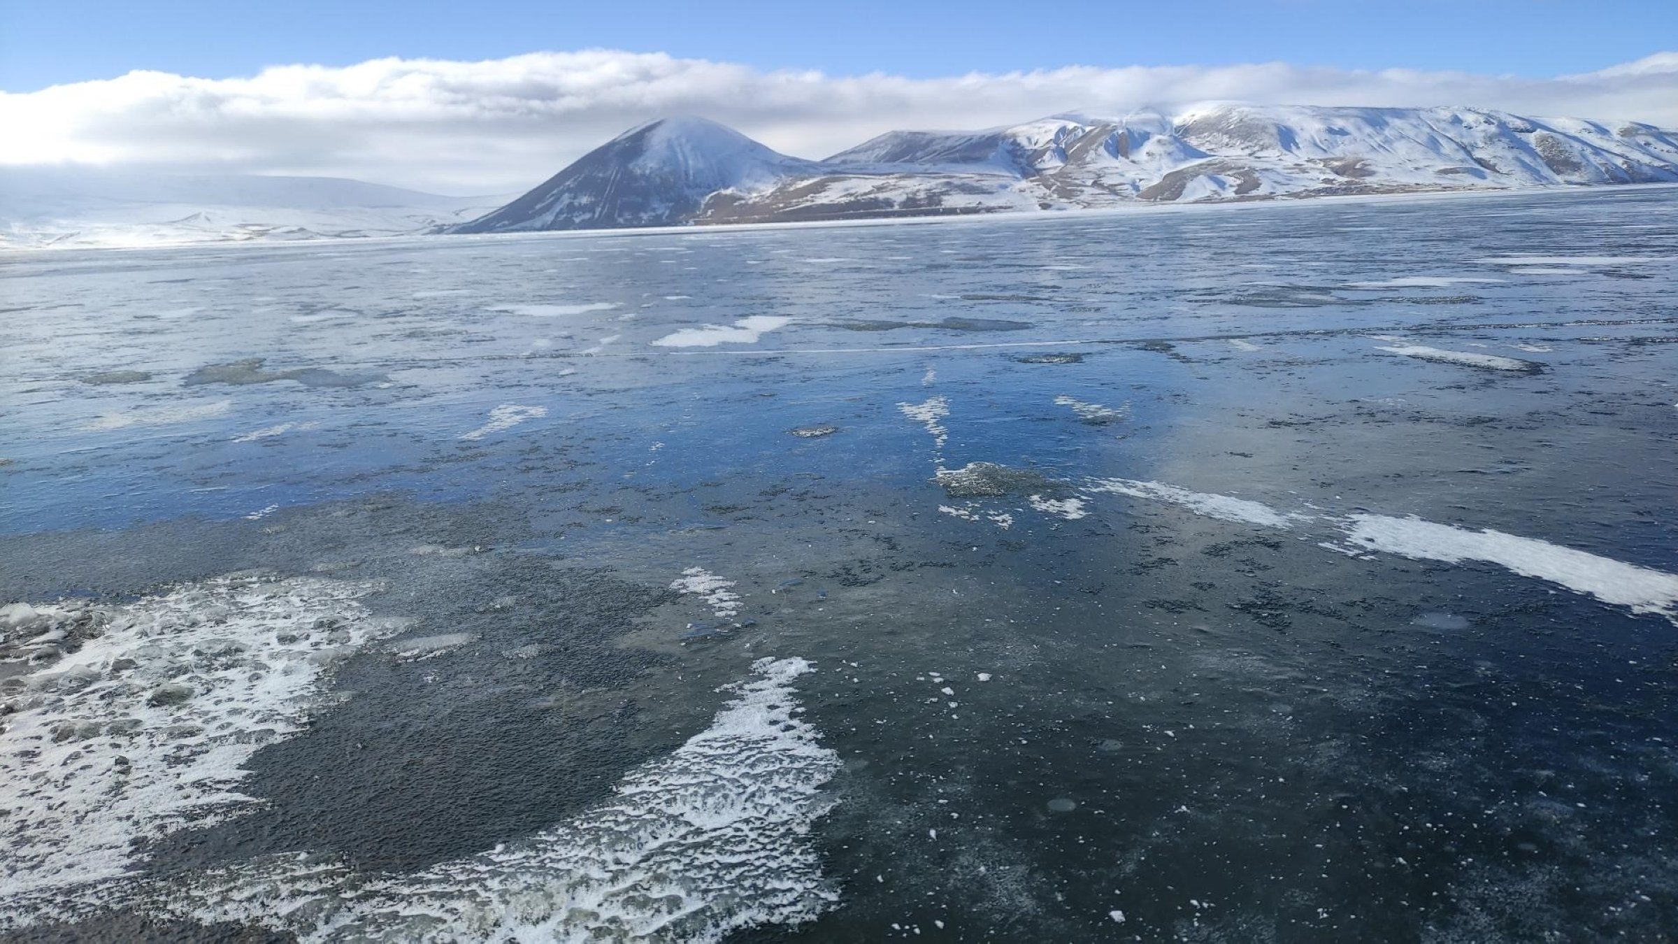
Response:
[{"label": "long white cloud bank stretching behind the mountains", "polygon": [[0,92],[0,165],[331,175],[498,193],[532,186],[664,114],[703,114],[772,148],[819,158],[894,128],[987,128],[1059,111],[1123,114],[1205,99],[1473,104],[1675,128],[1678,54],[1554,79],[1282,62],[832,77],[614,50],[282,66],[245,79],[129,72]]}]

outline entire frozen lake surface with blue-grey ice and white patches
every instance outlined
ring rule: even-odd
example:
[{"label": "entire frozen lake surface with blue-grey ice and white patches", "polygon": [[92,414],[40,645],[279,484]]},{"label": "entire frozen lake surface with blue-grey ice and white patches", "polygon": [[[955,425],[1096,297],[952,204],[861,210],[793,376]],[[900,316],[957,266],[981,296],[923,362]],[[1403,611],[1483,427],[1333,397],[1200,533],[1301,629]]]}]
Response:
[{"label": "entire frozen lake surface with blue-grey ice and white patches", "polygon": [[1678,937],[1678,190],[0,314],[18,941]]}]

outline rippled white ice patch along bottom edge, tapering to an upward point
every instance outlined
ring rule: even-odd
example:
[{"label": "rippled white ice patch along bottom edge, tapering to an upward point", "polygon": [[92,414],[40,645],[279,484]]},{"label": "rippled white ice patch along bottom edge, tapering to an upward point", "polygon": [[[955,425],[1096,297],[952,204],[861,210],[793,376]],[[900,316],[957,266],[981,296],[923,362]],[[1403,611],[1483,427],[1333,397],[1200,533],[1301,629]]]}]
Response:
[{"label": "rippled white ice patch along bottom edge, tapering to an upward point", "polygon": [[[10,922],[126,905],[240,922],[304,942],[713,942],[795,926],[839,900],[810,826],[841,769],[802,712],[802,658],[760,658],[711,726],[626,774],[616,798],[490,852],[408,875],[366,875],[326,857],[262,857],[168,880],[42,897]],[[0,926],[7,917],[0,917]]]}]

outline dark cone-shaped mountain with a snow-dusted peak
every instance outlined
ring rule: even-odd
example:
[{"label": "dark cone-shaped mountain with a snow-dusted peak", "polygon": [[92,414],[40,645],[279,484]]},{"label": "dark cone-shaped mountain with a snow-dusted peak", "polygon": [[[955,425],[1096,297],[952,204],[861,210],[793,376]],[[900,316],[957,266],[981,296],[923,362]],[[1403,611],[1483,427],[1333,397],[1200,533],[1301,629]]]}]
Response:
[{"label": "dark cone-shaped mountain with a snow-dusted peak", "polygon": [[819,165],[770,151],[715,121],[666,118],[631,128],[451,232],[664,227],[693,220],[715,193],[752,193],[819,173]]}]

